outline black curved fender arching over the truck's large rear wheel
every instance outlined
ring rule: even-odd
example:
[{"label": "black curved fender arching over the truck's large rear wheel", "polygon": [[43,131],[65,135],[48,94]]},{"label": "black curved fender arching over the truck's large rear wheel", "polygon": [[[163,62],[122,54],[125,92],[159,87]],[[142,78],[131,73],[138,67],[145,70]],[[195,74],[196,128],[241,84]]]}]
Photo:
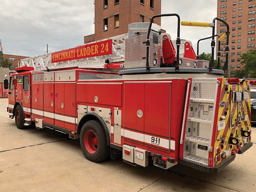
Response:
[{"label": "black curved fender arching over the truck's large rear wheel", "polygon": [[83,124],[88,122],[89,120],[99,120],[100,121],[100,123],[102,124],[102,126],[105,130],[105,134],[107,137],[107,145],[110,145],[110,137],[109,137],[108,128],[107,128],[106,124],[104,123],[103,119],[97,113],[87,113],[81,118],[81,120],[77,126],[77,134],[78,135],[80,134]]}]

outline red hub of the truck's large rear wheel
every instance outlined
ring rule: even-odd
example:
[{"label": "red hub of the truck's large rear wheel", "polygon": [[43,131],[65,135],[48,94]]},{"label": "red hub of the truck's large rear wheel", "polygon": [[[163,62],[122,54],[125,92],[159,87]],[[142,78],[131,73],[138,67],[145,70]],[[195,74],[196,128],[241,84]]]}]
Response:
[{"label": "red hub of the truck's large rear wheel", "polygon": [[94,131],[88,130],[85,133],[84,145],[86,150],[91,154],[94,154],[97,151],[99,143],[98,143],[98,138]]}]

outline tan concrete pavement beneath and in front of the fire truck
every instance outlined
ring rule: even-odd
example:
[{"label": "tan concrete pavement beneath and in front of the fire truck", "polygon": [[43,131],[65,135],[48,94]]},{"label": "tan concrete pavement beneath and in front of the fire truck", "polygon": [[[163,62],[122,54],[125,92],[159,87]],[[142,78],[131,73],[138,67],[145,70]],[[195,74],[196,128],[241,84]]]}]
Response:
[{"label": "tan concrete pavement beneath and in front of the fire truck", "polygon": [[121,159],[93,163],[85,159],[79,142],[63,134],[17,129],[14,120],[7,118],[7,105],[7,99],[0,99],[0,192],[256,191],[256,144],[218,174],[184,166],[168,171],[133,167]]}]

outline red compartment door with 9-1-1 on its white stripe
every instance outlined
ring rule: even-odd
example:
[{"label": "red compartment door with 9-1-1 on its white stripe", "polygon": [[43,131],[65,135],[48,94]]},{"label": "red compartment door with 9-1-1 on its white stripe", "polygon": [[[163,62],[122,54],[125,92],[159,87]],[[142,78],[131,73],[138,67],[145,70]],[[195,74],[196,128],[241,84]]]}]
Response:
[{"label": "red compartment door with 9-1-1 on its white stripe", "polygon": [[[169,150],[171,83],[145,83],[144,142]],[[172,142],[171,142],[172,144]],[[171,149],[175,149],[173,144]]]}]

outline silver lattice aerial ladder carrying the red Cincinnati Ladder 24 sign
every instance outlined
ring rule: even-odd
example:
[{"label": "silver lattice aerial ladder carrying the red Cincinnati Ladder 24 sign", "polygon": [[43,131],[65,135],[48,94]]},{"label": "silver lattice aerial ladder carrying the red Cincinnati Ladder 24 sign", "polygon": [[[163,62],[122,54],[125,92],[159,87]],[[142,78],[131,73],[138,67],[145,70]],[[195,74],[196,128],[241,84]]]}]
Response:
[{"label": "silver lattice aerial ladder carrying the red Cincinnati Ladder 24 sign", "polygon": [[[36,57],[29,57],[22,59],[18,64],[18,67],[34,67],[34,70],[47,70],[47,69],[61,69],[61,68],[71,68],[71,67],[79,67],[79,68],[106,68],[106,60],[109,63],[118,63],[124,62],[124,52],[125,52],[125,38],[128,37],[128,34],[123,34],[119,36],[115,36],[112,38],[112,54],[111,55],[101,55],[95,57],[81,58],[69,61],[62,62],[52,62],[52,54],[47,53],[44,55],[39,55]],[[100,41],[95,41],[91,43],[87,43],[84,45],[90,45],[94,43],[100,43],[106,41],[108,39],[103,39]],[[82,46],[82,45],[81,45]],[[70,50],[75,48],[80,48],[81,46],[77,46],[74,48],[70,48]],[[99,45],[99,51],[102,49]],[[68,49],[69,50],[69,49]],[[64,50],[63,50],[64,51]]]}]

